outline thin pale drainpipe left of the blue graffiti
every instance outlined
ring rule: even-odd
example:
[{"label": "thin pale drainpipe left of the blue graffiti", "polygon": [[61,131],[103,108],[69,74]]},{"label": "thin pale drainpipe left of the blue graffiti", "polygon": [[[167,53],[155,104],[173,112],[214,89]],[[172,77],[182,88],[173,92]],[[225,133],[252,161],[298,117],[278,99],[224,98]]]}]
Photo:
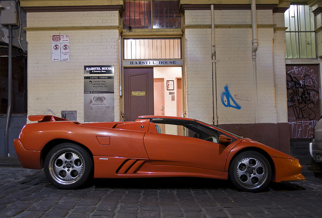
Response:
[{"label": "thin pale drainpipe left of the blue graffiti", "polygon": [[211,5],[211,59],[212,59],[212,76],[213,76],[213,123],[217,125],[217,79],[216,79],[216,49],[215,49],[215,16],[214,5]]}]

